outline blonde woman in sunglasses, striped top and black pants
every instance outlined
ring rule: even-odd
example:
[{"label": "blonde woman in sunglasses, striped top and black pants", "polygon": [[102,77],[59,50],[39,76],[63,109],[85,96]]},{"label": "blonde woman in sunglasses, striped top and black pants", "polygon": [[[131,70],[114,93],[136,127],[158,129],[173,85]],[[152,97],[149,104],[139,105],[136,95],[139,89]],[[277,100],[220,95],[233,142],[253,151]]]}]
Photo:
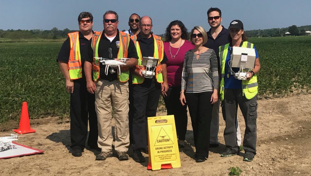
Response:
[{"label": "blonde woman in sunglasses, striped top and black pants", "polygon": [[185,54],[179,100],[188,104],[196,162],[204,162],[209,152],[212,108],[218,100],[218,63],[215,51],[203,46],[207,33],[201,26],[195,26],[190,37],[195,47]]}]

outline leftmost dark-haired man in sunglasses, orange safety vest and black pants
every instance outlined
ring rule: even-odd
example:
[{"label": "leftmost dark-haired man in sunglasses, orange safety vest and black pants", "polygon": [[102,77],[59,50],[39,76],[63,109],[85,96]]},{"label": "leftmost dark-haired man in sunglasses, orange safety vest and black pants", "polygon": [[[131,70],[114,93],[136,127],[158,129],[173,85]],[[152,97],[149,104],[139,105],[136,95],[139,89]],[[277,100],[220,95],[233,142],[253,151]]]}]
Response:
[{"label": "leftmost dark-haired man in sunglasses, orange safety vest and black pants", "polygon": [[[89,12],[82,12],[78,17],[79,32],[68,34],[68,39],[61,47],[57,61],[66,79],[66,90],[70,94],[70,138],[73,156],[82,156],[87,137],[87,122],[90,123],[90,134],[87,145],[91,149],[98,149],[97,117],[95,112],[95,96],[86,89],[86,79],[83,68],[84,59],[74,55],[88,53],[89,40],[93,36],[93,16]],[[75,40],[77,39],[78,40]],[[80,53],[74,52],[74,43],[79,41]],[[72,45],[72,46],[71,46]],[[75,48],[78,49],[78,48]],[[72,50],[72,52],[71,52]],[[78,69],[74,69],[74,59],[78,60]],[[69,67],[68,67],[69,64]],[[69,68],[69,69],[68,69]],[[82,73],[81,73],[82,71]],[[75,74],[76,73],[76,74]],[[80,74],[81,73],[81,74]]]}]

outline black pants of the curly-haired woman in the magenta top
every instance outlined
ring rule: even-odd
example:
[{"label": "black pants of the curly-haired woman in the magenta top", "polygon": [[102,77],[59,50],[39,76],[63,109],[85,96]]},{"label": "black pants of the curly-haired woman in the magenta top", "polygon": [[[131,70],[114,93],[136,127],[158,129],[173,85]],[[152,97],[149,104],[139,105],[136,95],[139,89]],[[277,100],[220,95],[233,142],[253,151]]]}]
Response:
[{"label": "black pants of the curly-haired woman in the magenta top", "polygon": [[181,86],[169,87],[164,98],[167,115],[174,115],[177,137],[179,140],[185,140],[187,132],[187,105],[183,106],[180,101]]}]

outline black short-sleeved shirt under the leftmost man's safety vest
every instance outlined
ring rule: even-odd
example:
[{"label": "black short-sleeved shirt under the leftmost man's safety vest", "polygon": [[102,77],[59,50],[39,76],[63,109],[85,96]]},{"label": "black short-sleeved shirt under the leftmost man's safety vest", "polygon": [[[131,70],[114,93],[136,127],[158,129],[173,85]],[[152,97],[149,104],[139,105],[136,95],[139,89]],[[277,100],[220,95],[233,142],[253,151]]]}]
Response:
[{"label": "black short-sleeved shirt under the leftmost man's safety vest", "polygon": [[[94,34],[94,31],[92,31]],[[89,49],[89,41],[87,38],[84,37],[84,35],[79,31],[79,44],[80,44],[80,55],[81,55],[81,65],[82,65],[82,78],[85,80],[84,76],[84,59],[82,58],[82,55],[85,55],[88,53]],[[68,63],[70,57],[70,39],[69,37],[67,40],[64,41],[62,47],[59,50],[58,56],[56,61],[63,61]],[[75,81],[75,80],[74,80]]]}]

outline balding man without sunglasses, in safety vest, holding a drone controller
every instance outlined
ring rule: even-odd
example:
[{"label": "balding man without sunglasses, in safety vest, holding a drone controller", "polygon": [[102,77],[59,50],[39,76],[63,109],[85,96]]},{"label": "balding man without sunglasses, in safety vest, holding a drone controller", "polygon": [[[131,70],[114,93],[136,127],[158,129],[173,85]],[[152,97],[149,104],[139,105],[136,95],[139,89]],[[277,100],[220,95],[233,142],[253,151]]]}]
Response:
[{"label": "balding man without sunglasses, in safety vest, holding a drone controller", "polygon": [[[160,67],[156,68],[157,77],[144,78],[142,70],[135,69],[133,74],[133,105],[134,105],[134,118],[133,118],[133,150],[134,160],[136,162],[145,162],[142,156],[142,150],[148,150],[147,146],[147,117],[156,116],[161,92],[165,93],[168,89],[166,62],[168,59],[164,54],[163,42],[158,36],[151,34],[152,20],[150,17],[144,16],[140,20],[141,31],[137,36],[132,36],[136,43],[137,54],[141,57],[154,57],[160,61]],[[135,40],[136,38],[136,40]],[[138,43],[138,44],[137,44]],[[157,48],[157,50],[155,49]],[[158,56],[158,57],[156,57]],[[140,58],[141,59],[141,58]],[[162,59],[162,60],[161,60]],[[140,64],[140,61],[138,63]],[[153,69],[153,68],[152,68]],[[162,69],[158,74],[157,70]]]}]

